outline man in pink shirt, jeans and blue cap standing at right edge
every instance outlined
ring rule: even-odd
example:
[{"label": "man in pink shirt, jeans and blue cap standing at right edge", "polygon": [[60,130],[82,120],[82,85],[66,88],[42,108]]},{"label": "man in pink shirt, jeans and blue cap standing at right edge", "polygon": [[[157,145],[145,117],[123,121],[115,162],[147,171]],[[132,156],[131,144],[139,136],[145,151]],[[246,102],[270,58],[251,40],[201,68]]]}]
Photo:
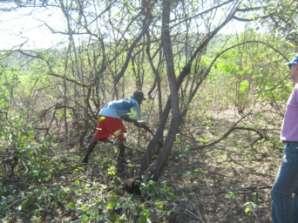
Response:
[{"label": "man in pink shirt, jeans and blue cap standing at right edge", "polygon": [[284,156],[271,191],[273,223],[298,222],[298,55],[288,66],[294,88],[281,127]]}]

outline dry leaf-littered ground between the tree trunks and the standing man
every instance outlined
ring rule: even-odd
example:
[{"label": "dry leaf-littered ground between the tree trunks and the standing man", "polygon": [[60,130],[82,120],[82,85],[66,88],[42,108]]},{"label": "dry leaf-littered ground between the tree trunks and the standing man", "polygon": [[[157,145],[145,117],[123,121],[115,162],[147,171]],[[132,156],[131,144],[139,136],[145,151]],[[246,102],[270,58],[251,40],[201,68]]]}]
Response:
[{"label": "dry leaf-littered ground between the tree trunks and the standing man", "polygon": [[[184,127],[165,176],[187,201],[187,222],[271,222],[270,191],[282,154],[278,131],[268,130],[259,138],[254,131],[235,129],[218,143],[201,147],[235,123],[226,116],[210,120],[200,129]],[[253,126],[251,120],[239,126]]]}]

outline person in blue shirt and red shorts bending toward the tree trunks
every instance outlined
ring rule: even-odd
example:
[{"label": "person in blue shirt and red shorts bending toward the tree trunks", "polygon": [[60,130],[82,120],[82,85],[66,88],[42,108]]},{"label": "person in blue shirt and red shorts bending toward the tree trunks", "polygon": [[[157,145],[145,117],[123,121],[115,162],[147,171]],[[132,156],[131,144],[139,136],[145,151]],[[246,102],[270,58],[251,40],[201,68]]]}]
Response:
[{"label": "person in blue shirt and red shorts bending toward the tree trunks", "polygon": [[138,127],[144,125],[141,120],[140,106],[145,100],[142,91],[135,91],[130,98],[110,101],[97,113],[97,125],[94,135],[87,147],[83,163],[88,163],[89,156],[98,141],[117,142],[119,146],[118,165],[124,162],[125,132],[123,120],[132,122]]}]

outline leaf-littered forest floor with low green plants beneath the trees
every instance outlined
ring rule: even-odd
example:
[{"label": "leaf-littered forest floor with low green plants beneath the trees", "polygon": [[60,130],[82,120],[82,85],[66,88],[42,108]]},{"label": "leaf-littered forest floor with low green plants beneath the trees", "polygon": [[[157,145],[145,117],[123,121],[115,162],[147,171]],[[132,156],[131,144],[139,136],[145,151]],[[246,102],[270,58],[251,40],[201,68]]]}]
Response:
[{"label": "leaf-littered forest floor with low green plants beneath the trees", "polygon": [[[201,146],[234,123],[218,116],[200,120],[200,127],[185,125],[160,182],[143,184],[138,196],[127,194],[116,176],[116,146],[98,145],[84,166],[82,149],[56,144],[47,167],[51,179],[5,180],[10,192],[2,193],[7,200],[2,221],[270,222],[270,189],[282,154],[276,134],[257,140],[255,131],[235,129],[218,143]],[[138,168],[144,138],[150,137],[142,134],[135,129],[128,138],[130,171]]]}]

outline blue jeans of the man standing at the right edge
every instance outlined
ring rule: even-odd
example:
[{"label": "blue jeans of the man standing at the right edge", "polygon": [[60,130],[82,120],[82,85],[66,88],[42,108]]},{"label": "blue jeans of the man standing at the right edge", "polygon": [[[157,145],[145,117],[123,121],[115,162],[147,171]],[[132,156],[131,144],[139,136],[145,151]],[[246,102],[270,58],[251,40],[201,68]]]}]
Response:
[{"label": "blue jeans of the man standing at the right edge", "polygon": [[295,223],[293,198],[298,186],[298,145],[286,144],[282,164],[275,179],[272,196],[272,223]]}]

